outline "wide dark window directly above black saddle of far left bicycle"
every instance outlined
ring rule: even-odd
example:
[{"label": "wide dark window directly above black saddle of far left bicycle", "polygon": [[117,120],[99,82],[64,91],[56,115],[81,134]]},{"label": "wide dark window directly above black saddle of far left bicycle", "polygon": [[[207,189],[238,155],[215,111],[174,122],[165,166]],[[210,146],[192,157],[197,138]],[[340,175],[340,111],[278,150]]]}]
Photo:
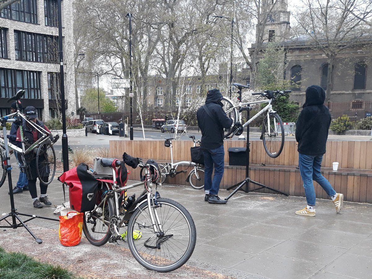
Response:
[{"label": "wide dark window directly above black saddle of far left bicycle", "polygon": [[21,89],[26,91],[23,99],[41,99],[40,72],[0,68],[0,97],[10,98]]}]

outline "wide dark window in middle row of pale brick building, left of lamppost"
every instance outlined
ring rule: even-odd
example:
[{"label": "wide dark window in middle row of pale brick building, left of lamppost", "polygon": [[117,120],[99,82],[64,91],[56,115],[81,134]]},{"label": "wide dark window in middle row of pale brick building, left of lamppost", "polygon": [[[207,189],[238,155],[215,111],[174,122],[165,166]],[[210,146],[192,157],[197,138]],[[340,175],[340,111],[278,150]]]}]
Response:
[{"label": "wide dark window in middle row of pale brick building, left of lamppost", "polygon": [[14,31],[15,59],[42,63],[58,63],[58,36]]}]

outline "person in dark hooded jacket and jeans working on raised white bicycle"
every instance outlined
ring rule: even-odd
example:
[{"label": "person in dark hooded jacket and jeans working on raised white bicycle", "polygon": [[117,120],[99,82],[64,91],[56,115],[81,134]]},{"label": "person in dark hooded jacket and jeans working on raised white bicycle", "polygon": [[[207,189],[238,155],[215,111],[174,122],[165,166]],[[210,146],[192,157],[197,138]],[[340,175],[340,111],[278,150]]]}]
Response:
[{"label": "person in dark hooded jacket and jeans working on raised white bicycle", "polygon": [[[218,197],[219,183],[224,174],[224,128],[230,128],[232,119],[222,109],[222,94],[218,89],[208,90],[203,106],[198,109],[196,117],[202,132],[201,147],[204,154],[204,200],[209,203],[226,203]],[[214,168],[214,176],[212,173]]]}]

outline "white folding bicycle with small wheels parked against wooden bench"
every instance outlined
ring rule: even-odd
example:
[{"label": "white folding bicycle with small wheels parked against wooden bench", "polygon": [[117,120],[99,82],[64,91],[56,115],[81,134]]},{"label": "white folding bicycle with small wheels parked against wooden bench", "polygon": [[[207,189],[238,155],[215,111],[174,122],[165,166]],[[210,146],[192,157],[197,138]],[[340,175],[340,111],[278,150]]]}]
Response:
[{"label": "white folding bicycle with small wheels parked against wooden bench", "polygon": [[[194,143],[194,147],[196,144],[200,145],[200,140],[195,140],[195,136],[189,136],[192,138]],[[179,173],[185,173],[187,170],[180,170],[177,171],[177,167],[181,164],[187,164],[188,167],[193,167],[193,169],[189,172],[187,176],[186,182],[189,182],[191,187],[194,189],[203,189],[204,188],[204,170],[202,169],[201,165],[198,163],[194,163],[192,161],[180,161],[177,163],[173,163],[173,146],[172,140],[174,138],[165,138],[164,146],[170,147],[170,163],[159,164],[159,170],[161,172],[161,184],[165,182],[167,177],[175,177]]]}]

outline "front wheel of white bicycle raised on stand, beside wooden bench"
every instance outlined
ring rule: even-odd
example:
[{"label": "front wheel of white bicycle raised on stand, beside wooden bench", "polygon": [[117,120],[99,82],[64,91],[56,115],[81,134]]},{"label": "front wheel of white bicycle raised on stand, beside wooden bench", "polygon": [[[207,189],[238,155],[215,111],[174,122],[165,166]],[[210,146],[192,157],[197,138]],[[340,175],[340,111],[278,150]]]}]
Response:
[{"label": "front wheel of white bicycle raised on stand, beside wooden bench", "polygon": [[[278,127],[276,124],[279,124],[281,135],[279,135]],[[269,114],[269,119],[267,115],[262,124],[262,134],[261,134],[263,147],[267,155],[271,158],[276,158],[282,153],[284,146],[284,128],[282,119],[279,115],[274,112]]]}]

